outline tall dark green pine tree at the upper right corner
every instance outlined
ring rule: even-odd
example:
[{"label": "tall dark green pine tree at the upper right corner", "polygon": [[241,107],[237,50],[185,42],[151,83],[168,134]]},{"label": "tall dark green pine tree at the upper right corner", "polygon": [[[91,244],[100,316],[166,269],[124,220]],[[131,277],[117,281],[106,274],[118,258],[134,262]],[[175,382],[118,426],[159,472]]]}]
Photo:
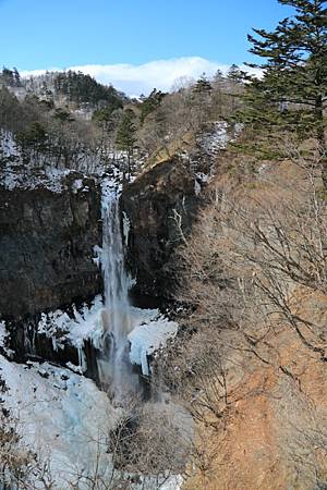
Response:
[{"label": "tall dark green pine tree at the upper right corner", "polygon": [[263,77],[247,85],[243,121],[270,134],[282,130],[300,138],[315,136],[327,187],[327,2],[278,1],[295,12],[274,32],[254,29],[249,35],[250,52],[263,59],[249,65],[263,70]]}]

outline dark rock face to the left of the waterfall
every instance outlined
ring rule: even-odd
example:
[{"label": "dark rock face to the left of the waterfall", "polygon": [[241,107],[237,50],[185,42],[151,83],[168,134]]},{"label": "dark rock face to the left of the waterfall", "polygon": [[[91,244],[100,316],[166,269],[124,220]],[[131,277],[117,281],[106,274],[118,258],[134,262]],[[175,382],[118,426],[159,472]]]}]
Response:
[{"label": "dark rock face to the left of the waterfall", "polygon": [[92,260],[100,194],[93,180],[83,183],[86,192],[72,182],[62,193],[0,188],[0,319],[19,322],[102,291]]}]

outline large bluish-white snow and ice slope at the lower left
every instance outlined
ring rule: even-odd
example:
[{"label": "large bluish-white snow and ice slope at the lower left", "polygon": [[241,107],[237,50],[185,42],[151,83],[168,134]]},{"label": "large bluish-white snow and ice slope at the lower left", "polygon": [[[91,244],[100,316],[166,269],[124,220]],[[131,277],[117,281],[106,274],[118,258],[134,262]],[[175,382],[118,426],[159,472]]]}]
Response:
[{"label": "large bluish-white snow and ice slope at the lower left", "polygon": [[93,381],[49,364],[17,365],[3,356],[0,378],[8,387],[4,407],[17,420],[24,443],[50,463],[58,490],[71,488],[68,480],[81,471],[92,474],[98,463],[110,471],[106,440],[120,414]]}]

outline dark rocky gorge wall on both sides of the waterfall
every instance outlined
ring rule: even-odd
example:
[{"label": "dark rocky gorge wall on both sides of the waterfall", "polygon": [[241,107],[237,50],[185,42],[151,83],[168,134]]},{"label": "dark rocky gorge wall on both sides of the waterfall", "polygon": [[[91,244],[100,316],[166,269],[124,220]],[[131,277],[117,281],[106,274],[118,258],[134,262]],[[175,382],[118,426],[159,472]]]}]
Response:
[{"label": "dark rocky gorge wall on both sides of the waterfall", "polygon": [[[226,125],[214,125],[191,152],[147,163],[133,182],[123,183],[121,225],[129,235],[125,265],[135,280],[134,306],[171,306],[179,275],[175,248],[192,229],[226,137]],[[56,168],[38,175],[33,167],[28,173],[21,160],[7,160],[0,179],[0,322],[10,332],[8,347],[16,360],[86,365],[85,373],[97,379],[97,347],[87,336],[80,345],[63,327],[52,329],[51,311],[75,321],[80,307],[104,292],[95,260],[102,242],[101,183]],[[110,185],[120,185],[119,169],[108,175]]]}]

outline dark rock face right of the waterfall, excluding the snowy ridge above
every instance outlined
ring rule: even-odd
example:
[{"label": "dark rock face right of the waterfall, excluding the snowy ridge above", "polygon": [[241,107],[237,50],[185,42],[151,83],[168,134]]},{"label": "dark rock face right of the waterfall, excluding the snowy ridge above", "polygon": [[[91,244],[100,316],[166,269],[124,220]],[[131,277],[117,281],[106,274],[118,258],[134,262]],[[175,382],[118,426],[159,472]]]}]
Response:
[{"label": "dark rock face right of the waterfall, excluding the snowy ridge above", "polygon": [[126,265],[136,279],[131,295],[138,306],[160,306],[171,299],[173,250],[181,234],[190,232],[198,204],[194,176],[177,158],[125,185],[122,210],[131,225]]}]

